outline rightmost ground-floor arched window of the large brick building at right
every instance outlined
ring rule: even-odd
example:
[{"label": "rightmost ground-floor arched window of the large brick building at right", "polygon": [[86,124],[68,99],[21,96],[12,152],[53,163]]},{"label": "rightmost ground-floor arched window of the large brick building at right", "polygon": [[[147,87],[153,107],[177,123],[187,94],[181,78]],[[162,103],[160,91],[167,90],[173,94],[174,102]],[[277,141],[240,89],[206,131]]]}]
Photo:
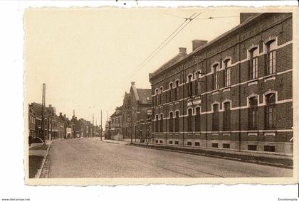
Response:
[{"label": "rightmost ground-floor arched window of the large brick building at right", "polygon": [[266,129],[276,128],[276,94],[268,94],[266,96]]}]

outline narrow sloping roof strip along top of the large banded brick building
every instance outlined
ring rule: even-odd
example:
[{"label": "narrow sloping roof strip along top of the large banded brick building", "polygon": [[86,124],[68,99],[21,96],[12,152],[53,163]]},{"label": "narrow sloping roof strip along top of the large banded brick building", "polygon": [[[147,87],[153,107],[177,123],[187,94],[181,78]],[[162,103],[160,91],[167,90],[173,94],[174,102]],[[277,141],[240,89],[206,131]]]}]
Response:
[{"label": "narrow sloping roof strip along top of the large banded brick building", "polygon": [[[189,58],[190,56],[194,55],[195,53],[199,52],[200,50],[203,50],[204,48],[209,47],[213,43],[216,43],[218,40],[221,40],[221,39],[225,38],[226,36],[229,36],[229,34],[233,33],[234,31],[238,31],[240,28],[243,28],[244,26],[247,26],[249,23],[251,23],[252,21],[255,21],[257,18],[263,16],[264,14],[266,14],[266,13],[259,13],[256,16],[252,16],[252,17],[248,18],[244,23],[241,23],[238,26],[235,26],[234,28],[231,28],[231,30],[226,31],[225,33],[223,33],[220,36],[214,38],[213,40],[209,41],[205,45],[202,45],[199,48],[196,48],[194,51],[192,51],[192,53],[189,53],[188,55],[185,55],[184,57],[180,57],[180,58],[178,58],[176,61],[174,61],[172,63],[169,63],[169,61],[168,61],[167,63],[169,63],[169,65],[166,65],[167,64],[166,63],[166,64],[162,65],[161,67],[159,67],[154,72],[150,73],[150,79],[152,77],[158,75],[160,72],[163,72],[164,70],[167,70],[169,67],[174,66],[175,64],[177,64],[180,61],[184,60],[185,58]],[[176,57],[174,57],[174,58],[176,58]]]}]

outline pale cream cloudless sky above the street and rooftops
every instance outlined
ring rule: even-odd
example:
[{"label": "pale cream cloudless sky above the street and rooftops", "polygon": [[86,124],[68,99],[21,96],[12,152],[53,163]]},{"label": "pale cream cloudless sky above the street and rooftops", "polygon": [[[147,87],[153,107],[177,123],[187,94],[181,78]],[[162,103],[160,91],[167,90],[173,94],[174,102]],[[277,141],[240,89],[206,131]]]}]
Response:
[{"label": "pale cream cloudless sky above the street and rooftops", "polygon": [[[201,13],[150,61],[140,65],[182,17]],[[24,22],[25,102],[41,102],[46,83],[46,105],[69,118],[103,126],[122,105],[131,82],[150,89],[148,75],[179,53],[192,52],[192,40],[212,40],[239,23],[240,10],[223,9],[27,9]],[[221,17],[208,19],[207,17]],[[224,18],[222,18],[224,17]]]}]

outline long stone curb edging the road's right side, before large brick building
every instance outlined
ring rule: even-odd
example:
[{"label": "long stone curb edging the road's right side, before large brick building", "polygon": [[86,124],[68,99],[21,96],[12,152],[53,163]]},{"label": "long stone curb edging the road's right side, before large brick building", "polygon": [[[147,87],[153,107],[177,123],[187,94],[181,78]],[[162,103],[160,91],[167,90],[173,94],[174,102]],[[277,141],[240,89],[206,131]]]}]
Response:
[{"label": "long stone curb edging the road's right side, before large brick building", "polygon": [[135,143],[130,143],[128,145],[138,146],[138,147],[142,147],[142,148],[153,148],[153,149],[162,150],[162,151],[186,153],[186,154],[192,154],[192,155],[197,155],[197,156],[206,156],[206,157],[212,157],[212,158],[223,158],[223,159],[227,159],[227,160],[231,160],[231,161],[240,161],[240,162],[243,162],[243,163],[254,163],[254,164],[259,164],[259,165],[274,166],[274,167],[278,167],[278,168],[293,169],[293,166],[284,165],[284,164],[281,164],[281,163],[270,163],[270,162],[266,162],[266,161],[249,161],[249,160],[247,161],[247,160],[244,160],[242,158],[232,158],[232,157],[227,157],[227,156],[217,156],[217,155],[206,154],[206,153],[194,153],[194,152],[189,152],[189,151],[179,151],[179,150],[175,150],[175,149],[158,148],[158,147],[155,147],[155,146],[138,145],[138,144],[135,144]]}]

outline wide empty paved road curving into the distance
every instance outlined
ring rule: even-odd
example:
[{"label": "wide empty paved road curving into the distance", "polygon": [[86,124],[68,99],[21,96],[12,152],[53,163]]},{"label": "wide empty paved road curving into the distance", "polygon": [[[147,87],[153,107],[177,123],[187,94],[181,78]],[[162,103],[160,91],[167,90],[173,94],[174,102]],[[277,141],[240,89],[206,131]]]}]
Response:
[{"label": "wide empty paved road curving into the distance", "polygon": [[221,158],[107,143],[96,138],[56,141],[50,178],[288,177],[293,170]]}]

